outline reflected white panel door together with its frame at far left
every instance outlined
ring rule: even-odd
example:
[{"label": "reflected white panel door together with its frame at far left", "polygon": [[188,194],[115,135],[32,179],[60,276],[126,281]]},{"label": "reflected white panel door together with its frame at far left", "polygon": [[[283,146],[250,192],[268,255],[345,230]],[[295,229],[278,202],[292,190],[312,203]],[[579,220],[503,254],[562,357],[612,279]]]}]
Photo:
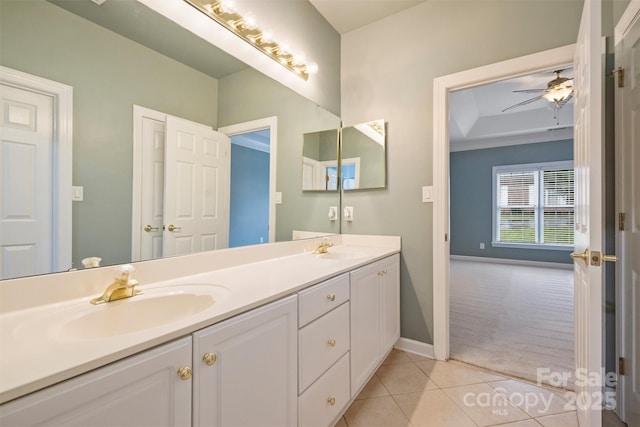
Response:
[{"label": "reflected white panel door together with its frame at far left", "polygon": [[0,279],[67,269],[72,88],[0,71]]}]

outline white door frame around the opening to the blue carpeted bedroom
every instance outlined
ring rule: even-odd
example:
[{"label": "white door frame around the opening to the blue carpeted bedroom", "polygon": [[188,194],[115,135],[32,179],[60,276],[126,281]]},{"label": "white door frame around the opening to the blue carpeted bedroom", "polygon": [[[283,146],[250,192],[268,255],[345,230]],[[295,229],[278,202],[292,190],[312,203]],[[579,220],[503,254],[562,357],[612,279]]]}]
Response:
[{"label": "white door frame around the opening to the blue carpeted bedroom", "polygon": [[433,354],[449,359],[449,93],[573,63],[575,44],[433,80]]}]

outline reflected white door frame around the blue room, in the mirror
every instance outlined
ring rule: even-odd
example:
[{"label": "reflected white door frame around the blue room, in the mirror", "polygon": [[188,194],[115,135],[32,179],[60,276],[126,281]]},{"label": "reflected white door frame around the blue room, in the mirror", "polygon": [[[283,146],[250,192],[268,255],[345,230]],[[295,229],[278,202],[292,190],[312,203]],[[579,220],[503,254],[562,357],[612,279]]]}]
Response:
[{"label": "reflected white door frame around the blue room, in the mirror", "polygon": [[233,135],[269,129],[269,242],[276,241],[276,175],[278,157],[278,117],[271,116],[218,128],[231,138]]}]

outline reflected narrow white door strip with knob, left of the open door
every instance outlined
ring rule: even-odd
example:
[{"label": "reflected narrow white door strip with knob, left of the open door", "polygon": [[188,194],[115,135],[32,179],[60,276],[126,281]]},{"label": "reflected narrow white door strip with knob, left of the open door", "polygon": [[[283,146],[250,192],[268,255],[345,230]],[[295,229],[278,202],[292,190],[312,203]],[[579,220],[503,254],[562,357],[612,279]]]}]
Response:
[{"label": "reflected narrow white door strip with knob, left of the open door", "polygon": [[142,118],[140,260],[162,258],[164,209],[164,121]]}]

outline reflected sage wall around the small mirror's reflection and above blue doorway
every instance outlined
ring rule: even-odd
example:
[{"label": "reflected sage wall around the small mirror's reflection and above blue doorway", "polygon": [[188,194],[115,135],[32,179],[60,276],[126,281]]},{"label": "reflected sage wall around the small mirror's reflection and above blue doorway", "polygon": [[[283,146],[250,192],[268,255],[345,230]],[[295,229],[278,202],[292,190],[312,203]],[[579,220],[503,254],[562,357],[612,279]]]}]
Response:
[{"label": "reflected sage wall around the small mirror's reflection and above blue doorway", "polygon": [[220,79],[218,101],[219,126],[278,117],[276,240],[291,240],[293,230],[338,233],[340,221],[327,215],[339,206],[339,194],[302,191],[302,140],[305,133],[339,128],[340,119],[252,69]]}]

